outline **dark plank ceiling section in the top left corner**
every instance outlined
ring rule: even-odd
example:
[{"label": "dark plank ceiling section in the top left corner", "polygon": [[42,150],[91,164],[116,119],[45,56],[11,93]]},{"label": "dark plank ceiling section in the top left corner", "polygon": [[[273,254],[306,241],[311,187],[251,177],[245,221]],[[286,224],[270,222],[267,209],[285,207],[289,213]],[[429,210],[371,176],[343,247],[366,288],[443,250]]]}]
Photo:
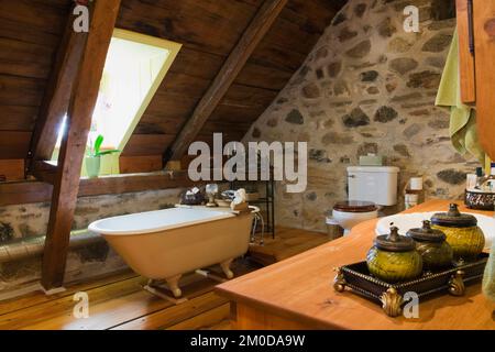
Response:
[{"label": "dark plank ceiling section in the top left corner", "polygon": [[24,160],[70,2],[0,1],[0,160]]}]

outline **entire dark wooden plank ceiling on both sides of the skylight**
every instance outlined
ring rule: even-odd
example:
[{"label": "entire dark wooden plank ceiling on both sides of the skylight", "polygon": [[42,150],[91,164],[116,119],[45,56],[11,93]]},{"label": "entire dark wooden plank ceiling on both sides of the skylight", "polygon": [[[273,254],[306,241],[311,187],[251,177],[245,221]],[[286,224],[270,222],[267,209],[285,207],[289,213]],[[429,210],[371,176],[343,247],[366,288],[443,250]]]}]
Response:
[{"label": "entire dark wooden plank ceiling on both sides of the skylight", "polygon": [[[289,0],[198,135],[240,140],[343,6]],[[25,160],[61,45],[70,0],[0,1],[0,160]],[[123,151],[157,156],[168,148],[210,87],[263,0],[122,0],[117,28],[183,48]],[[0,173],[1,174],[1,173]]]}]

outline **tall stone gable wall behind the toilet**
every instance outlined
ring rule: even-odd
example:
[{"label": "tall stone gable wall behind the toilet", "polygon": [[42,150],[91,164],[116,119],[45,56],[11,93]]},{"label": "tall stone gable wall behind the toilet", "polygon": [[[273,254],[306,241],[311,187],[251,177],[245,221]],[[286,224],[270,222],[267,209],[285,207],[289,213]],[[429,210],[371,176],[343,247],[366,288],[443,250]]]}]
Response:
[{"label": "tall stone gable wall behind the toilet", "polygon": [[[449,112],[435,107],[455,25],[447,2],[350,0],[253,124],[245,141],[308,142],[308,188],[278,187],[278,223],[324,230],[326,212],[346,198],[345,168],[370,152],[400,167],[400,190],[424,176],[427,198],[462,196],[476,162],[453,150]],[[409,4],[419,7],[420,33],[404,31]]]}]

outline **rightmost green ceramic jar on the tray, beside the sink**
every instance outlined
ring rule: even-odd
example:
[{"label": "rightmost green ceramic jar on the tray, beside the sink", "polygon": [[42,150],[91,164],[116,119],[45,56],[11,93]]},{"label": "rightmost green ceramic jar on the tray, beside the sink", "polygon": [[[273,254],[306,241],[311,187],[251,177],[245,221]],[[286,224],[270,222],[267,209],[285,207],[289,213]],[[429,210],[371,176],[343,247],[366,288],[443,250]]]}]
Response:
[{"label": "rightmost green ceramic jar on the tray, beside the sink", "polygon": [[450,205],[448,212],[436,213],[431,223],[433,229],[446,233],[455,260],[475,258],[483,252],[485,237],[477,226],[477,219],[472,215],[461,213],[458,205]]}]

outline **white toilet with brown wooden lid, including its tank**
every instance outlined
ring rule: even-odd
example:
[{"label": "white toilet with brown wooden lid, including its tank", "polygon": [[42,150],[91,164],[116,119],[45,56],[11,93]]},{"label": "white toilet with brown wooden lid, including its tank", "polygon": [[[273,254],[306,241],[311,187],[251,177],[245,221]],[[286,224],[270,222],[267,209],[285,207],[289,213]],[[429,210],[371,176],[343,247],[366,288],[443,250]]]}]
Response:
[{"label": "white toilet with brown wooden lid, including its tank", "polygon": [[381,208],[397,204],[398,173],[399,168],[392,166],[348,167],[349,200],[337,202],[332,211],[344,234],[358,223],[377,218]]}]

